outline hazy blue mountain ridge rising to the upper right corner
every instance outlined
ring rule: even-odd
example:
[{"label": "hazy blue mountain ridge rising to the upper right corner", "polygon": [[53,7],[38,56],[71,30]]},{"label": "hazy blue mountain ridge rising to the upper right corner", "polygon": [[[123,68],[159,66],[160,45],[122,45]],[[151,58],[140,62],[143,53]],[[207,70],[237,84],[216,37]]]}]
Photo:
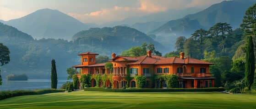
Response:
[{"label": "hazy blue mountain ridge rising to the upper right corner", "polygon": [[[211,5],[205,10],[197,12],[196,14],[186,15],[185,17],[177,20],[170,20],[161,25],[156,30],[150,31],[148,34],[155,34],[156,39],[163,45],[167,45],[174,50],[174,43],[178,36],[190,37],[195,30],[205,29],[215,25],[218,22],[227,22],[233,29],[240,27],[243,20],[245,10],[254,4],[256,0],[230,0],[223,1],[218,4]],[[184,26],[185,29],[180,28],[182,21],[191,20],[194,23]],[[198,22],[198,23],[196,23]],[[191,30],[187,27],[192,27]],[[176,28],[176,30],[174,30]],[[185,31],[184,31],[185,30]],[[166,41],[168,40],[168,42]]]}]

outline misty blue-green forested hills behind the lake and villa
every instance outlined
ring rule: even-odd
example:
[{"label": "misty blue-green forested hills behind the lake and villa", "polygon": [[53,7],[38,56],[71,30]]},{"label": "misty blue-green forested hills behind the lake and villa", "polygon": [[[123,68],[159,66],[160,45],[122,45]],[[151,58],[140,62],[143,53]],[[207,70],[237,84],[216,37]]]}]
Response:
[{"label": "misty blue-green forested hills behind the lake and villa", "polygon": [[6,45],[11,52],[10,63],[1,68],[2,77],[26,73],[30,79],[49,78],[51,60],[55,59],[58,78],[65,79],[66,69],[80,64],[77,54],[82,52],[91,51],[110,57],[112,53],[120,54],[122,50],[143,42],[153,42],[158,48],[163,47],[142,32],[122,26],[81,31],[74,38],[74,41],[34,40],[31,35],[0,23],[0,43]]}]

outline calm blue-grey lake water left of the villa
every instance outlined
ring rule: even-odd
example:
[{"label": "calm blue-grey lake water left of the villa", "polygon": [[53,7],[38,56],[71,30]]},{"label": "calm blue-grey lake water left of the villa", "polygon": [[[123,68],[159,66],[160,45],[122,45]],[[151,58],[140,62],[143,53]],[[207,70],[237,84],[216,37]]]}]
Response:
[{"label": "calm blue-grey lake water left of the villa", "polygon": [[[60,89],[62,84],[67,80],[58,80],[57,89]],[[68,80],[70,81],[70,80]],[[0,91],[2,90],[34,90],[34,89],[51,89],[51,80],[50,79],[28,79],[27,81],[8,81],[3,79],[3,84],[0,85]]]}]

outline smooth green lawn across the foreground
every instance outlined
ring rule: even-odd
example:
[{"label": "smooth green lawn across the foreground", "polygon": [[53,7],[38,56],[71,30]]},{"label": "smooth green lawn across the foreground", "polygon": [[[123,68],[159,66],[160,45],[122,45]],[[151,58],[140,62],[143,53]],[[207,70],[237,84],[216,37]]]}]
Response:
[{"label": "smooth green lawn across the foreground", "polygon": [[0,109],[256,109],[256,94],[219,92],[94,92],[26,95],[0,100]]}]

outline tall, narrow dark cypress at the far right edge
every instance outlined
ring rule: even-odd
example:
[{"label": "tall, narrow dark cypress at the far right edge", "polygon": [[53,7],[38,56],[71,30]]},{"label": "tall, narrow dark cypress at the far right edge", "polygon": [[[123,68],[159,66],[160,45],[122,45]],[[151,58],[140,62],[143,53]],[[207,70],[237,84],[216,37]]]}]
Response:
[{"label": "tall, narrow dark cypress at the far right edge", "polygon": [[251,85],[254,80],[254,72],[255,72],[255,57],[253,50],[253,42],[252,37],[249,36],[248,45],[246,47],[246,57],[245,57],[245,86],[248,87],[251,93]]}]

